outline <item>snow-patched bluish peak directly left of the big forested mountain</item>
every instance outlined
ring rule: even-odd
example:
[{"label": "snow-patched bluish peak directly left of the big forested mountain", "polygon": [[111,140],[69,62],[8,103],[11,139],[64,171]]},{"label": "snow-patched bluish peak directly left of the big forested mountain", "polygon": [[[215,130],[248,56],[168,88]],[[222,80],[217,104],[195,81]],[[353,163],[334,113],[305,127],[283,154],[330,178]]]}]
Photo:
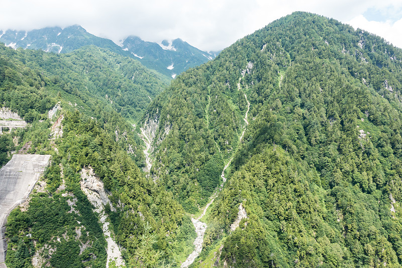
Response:
[{"label": "snow-patched bluish peak directly left of the big forested mountain", "polygon": [[145,66],[173,78],[186,69],[198,66],[215,58],[180,38],[169,42],[147,42],[137,36],[129,36],[122,43],[124,50],[136,56]]}]

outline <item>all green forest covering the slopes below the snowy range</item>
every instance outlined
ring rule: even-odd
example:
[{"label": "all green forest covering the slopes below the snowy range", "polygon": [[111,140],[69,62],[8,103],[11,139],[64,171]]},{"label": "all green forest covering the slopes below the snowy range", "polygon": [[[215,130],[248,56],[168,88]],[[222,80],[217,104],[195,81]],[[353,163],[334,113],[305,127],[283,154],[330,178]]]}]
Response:
[{"label": "all green forest covering the slopes below the snowy range", "polygon": [[95,46],[0,45],[0,99],[29,123],[0,137],[0,161],[27,144],[52,155],[46,187],[8,218],[6,264],[109,263],[80,186],[91,167],[127,267],[179,267],[200,216],[202,251],[188,267],[400,267],[401,77],[401,49],[304,12],[170,84]]}]

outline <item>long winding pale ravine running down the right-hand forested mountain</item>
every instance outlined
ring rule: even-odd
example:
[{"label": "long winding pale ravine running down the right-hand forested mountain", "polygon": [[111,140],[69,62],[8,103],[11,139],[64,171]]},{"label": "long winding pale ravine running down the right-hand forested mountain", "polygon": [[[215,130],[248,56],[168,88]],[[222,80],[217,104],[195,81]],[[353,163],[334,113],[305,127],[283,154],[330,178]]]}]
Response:
[{"label": "long winding pale ravine running down the right-hand forested mountain", "polygon": [[[241,80],[241,78],[239,78],[239,83],[237,84],[238,90],[240,90],[240,80]],[[248,101],[246,94],[244,94],[244,97],[246,98],[246,101],[247,101],[247,111],[246,111],[246,115],[244,116],[244,122],[246,123],[246,125],[245,125],[245,128],[244,128],[243,132],[242,132],[242,135],[239,138],[239,144],[242,141],[244,133],[246,132],[247,126],[249,124],[247,117],[248,117],[248,112],[250,110],[250,102]],[[217,144],[217,146],[218,146],[218,144]],[[218,149],[219,149],[219,146],[218,146]],[[187,259],[183,263],[181,263],[181,266],[180,266],[181,268],[188,267],[191,263],[193,263],[195,258],[198,257],[199,253],[201,253],[201,251],[203,250],[204,234],[205,234],[205,231],[207,230],[207,224],[202,222],[202,221],[200,221],[200,219],[205,216],[205,214],[207,212],[207,209],[214,202],[215,197],[218,195],[218,193],[220,191],[222,191],[223,185],[226,182],[225,170],[229,167],[229,165],[231,164],[232,160],[233,160],[233,156],[226,163],[224,169],[222,170],[221,177],[222,177],[223,183],[221,184],[221,187],[210,197],[211,200],[207,204],[207,206],[204,208],[203,213],[196,219],[191,217],[191,222],[194,225],[195,232],[197,234],[197,237],[195,238],[194,243],[193,243],[195,248],[191,252],[191,254],[187,257]]]}]

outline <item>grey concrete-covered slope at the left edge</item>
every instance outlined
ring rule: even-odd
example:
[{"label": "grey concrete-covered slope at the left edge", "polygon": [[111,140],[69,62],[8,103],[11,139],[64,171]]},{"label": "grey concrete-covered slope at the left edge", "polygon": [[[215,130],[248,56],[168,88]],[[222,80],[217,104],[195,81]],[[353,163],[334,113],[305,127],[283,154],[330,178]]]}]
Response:
[{"label": "grey concrete-covered slope at the left edge", "polygon": [[7,217],[25,202],[49,164],[50,155],[15,154],[0,169],[0,268],[6,267],[7,243],[5,239]]}]

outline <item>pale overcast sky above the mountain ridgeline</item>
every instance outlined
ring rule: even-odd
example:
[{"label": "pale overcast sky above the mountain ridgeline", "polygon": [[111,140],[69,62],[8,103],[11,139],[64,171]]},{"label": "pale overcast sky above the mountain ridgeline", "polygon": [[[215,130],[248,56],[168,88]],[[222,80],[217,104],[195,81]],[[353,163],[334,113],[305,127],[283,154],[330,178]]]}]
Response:
[{"label": "pale overcast sky above the mountain ridgeline", "polygon": [[294,11],[334,18],[402,48],[401,0],[2,0],[0,29],[79,24],[116,43],[129,35],[146,41],[181,38],[211,51]]}]

